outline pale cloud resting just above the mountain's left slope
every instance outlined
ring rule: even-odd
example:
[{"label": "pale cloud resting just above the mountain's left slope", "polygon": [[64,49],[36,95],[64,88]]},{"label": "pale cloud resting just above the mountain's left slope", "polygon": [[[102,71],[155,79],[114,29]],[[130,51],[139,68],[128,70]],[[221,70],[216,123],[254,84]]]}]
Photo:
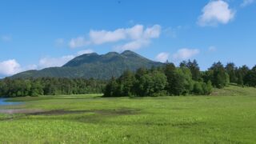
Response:
[{"label": "pale cloud resting just above the mountain's left slope", "polygon": [[69,62],[71,59],[73,59],[75,56],[74,55],[66,55],[62,56],[60,58],[41,58],[39,60],[39,69],[43,69],[46,67],[56,67],[56,66],[63,66],[66,64],[66,62]]}]

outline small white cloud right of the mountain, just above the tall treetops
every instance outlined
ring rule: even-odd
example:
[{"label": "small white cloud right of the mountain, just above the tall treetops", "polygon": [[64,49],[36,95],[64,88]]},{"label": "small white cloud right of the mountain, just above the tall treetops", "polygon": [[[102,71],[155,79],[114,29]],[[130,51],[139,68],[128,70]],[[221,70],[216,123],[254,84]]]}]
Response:
[{"label": "small white cloud right of the mountain, just above the tall treetops", "polygon": [[175,60],[186,60],[189,58],[194,57],[194,55],[199,54],[199,50],[198,49],[180,49],[178,50],[174,55],[173,58]]}]

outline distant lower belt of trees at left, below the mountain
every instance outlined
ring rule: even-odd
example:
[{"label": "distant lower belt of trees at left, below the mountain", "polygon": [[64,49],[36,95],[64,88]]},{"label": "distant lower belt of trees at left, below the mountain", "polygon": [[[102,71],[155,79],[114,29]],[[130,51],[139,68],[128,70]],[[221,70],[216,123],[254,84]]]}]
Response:
[{"label": "distant lower belt of trees at left, below the mountain", "polygon": [[0,97],[100,94],[105,86],[105,81],[92,78],[5,78],[0,80]]}]

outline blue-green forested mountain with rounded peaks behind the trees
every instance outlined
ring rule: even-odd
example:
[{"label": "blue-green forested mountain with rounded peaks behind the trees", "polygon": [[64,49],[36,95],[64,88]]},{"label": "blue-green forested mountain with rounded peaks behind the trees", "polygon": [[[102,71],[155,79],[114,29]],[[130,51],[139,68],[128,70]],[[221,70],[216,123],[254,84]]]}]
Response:
[{"label": "blue-green forested mountain with rounded peaks behind the trees", "polygon": [[96,78],[108,79],[119,77],[125,70],[137,70],[140,67],[150,68],[162,66],[133,51],[126,50],[122,54],[110,52],[107,54],[82,54],[67,62],[62,67],[50,67],[43,70],[28,70],[15,74],[11,78]]}]

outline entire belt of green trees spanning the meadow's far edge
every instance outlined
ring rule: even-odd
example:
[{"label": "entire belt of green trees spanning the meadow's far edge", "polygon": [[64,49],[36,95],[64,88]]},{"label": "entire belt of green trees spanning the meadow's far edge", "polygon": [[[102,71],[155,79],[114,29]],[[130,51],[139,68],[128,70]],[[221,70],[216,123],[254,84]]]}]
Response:
[{"label": "entire belt of green trees spanning the meadow's far edge", "polygon": [[0,80],[0,97],[22,97],[59,94],[104,93],[105,97],[161,96],[210,94],[213,87],[229,83],[256,86],[256,66],[223,66],[215,62],[208,70],[200,71],[197,61],[184,61],[179,66],[166,62],[151,69],[126,70],[119,78],[4,78]]}]

